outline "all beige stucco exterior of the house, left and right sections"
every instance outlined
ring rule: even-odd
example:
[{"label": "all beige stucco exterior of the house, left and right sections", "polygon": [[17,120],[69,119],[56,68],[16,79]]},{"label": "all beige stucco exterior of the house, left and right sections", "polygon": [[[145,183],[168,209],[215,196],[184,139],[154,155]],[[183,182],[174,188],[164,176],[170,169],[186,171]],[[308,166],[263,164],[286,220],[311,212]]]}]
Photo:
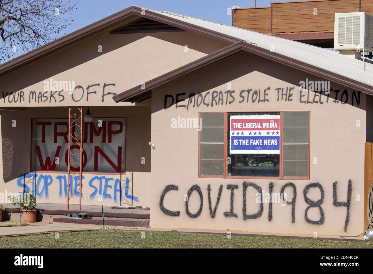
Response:
[{"label": "all beige stucco exterior of the house, left and right sections", "polygon": [[[116,26],[117,27],[117,26]],[[113,28],[114,29],[114,28]],[[98,47],[102,46],[102,53]],[[187,46],[187,47],[186,47]],[[91,38],[71,45],[53,53],[37,62],[31,63],[0,78],[0,116],[1,116],[1,153],[0,192],[19,192],[23,187],[17,185],[22,181],[22,174],[30,173],[31,158],[31,119],[67,117],[68,107],[89,106],[94,117],[126,117],[126,172],[125,174],[100,174],[119,179],[123,201],[114,200],[113,188],[108,194],[112,198],[100,200],[98,196],[90,198],[93,188],[89,181],[96,174],[84,174],[83,204],[91,205],[119,205],[133,204],[151,207],[151,222],[153,228],[193,228],[243,230],[247,232],[289,233],[289,234],[358,234],[363,230],[364,218],[364,143],[367,130],[367,95],[361,93],[359,104],[354,98],[352,105],[352,90],[339,84],[333,84],[333,90],[341,90],[335,100],[335,92],[331,92],[329,99],[321,95],[315,100],[320,103],[301,103],[299,82],[306,78],[318,79],[313,75],[292,69],[274,61],[258,57],[250,53],[240,53],[204,69],[183,76],[172,82],[152,90],[151,100],[141,105],[118,103],[112,100],[112,94],[119,94],[129,88],[140,85],[156,76],[176,69],[200,57],[225,47],[226,44],[190,32],[171,32],[158,34],[109,35],[109,30]],[[347,58],[347,57],[346,57]],[[55,99],[50,91],[44,94],[44,81],[75,81],[74,94],[64,91]],[[99,85],[95,85],[99,84]],[[115,84],[103,86],[107,84]],[[87,99],[87,87],[90,93]],[[230,86],[228,86],[230,85]],[[246,97],[241,101],[240,91],[246,89],[262,92],[270,87],[267,99],[269,101],[253,103],[251,95],[247,103]],[[292,89],[292,101],[278,98],[275,88]],[[341,102],[342,92],[347,89],[348,101],[344,104],[346,95]],[[84,94],[82,91],[84,90]],[[212,91],[235,91],[232,98],[224,98],[223,104],[211,107]],[[31,98],[29,94],[41,92],[42,101],[38,97]],[[96,91],[96,93],[94,93]],[[210,94],[207,92],[210,91]],[[4,95],[1,93],[3,92]],[[12,95],[10,93],[12,92]],[[14,102],[14,95],[23,92],[24,100]],[[112,94],[107,94],[111,92]],[[164,108],[165,95],[185,92],[185,101],[179,105],[188,104],[190,93],[201,92],[206,95],[209,106],[201,104],[199,107],[189,105],[176,107],[172,105]],[[43,94],[46,97],[43,97]],[[107,95],[105,95],[107,94]],[[307,100],[307,92],[303,93]],[[104,96],[103,96],[104,95]],[[11,96],[11,97],[9,97]],[[245,95],[244,95],[245,96]],[[262,93],[263,96],[263,93]],[[225,95],[224,95],[225,97]],[[13,98],[13,99],[12,99]],[[261,98],[262,99],[262,98]],[[61,100],[61,101],[60,101]],[[308,98],[313,101],[313,93]],[[333,102],[335,101],[335,102]],[[369,100],[371,101],[371,100]],[[18,107],[19,109],[7,109]],[[20,108],[22,107],[22,108]],[[371,107],[370,107],[371,108]],[[198,177],[198,131],[197,129],[178,129],[171,127],[171,119],[195,118],[201,111],[310,111],[310,180],[280,180],[280,179],[223,179]],[[17,126],[12,127],[16,120]],[[357,126],[359,125],[359,126]],[[148,142],[155,144],[151,150]],[[145,164],[141,158],[145,157]],[[316,163],[317,161],[317,163]],[[1,170],[2,167],[2,170]],[[65,203],[63,186],[57,176],[65,173],[37,173],[52,176],[53,183],[48,186],[48,197],[43,184],[37,191],[43,195],[37,196],[40,203]],[[21,178],[21,179],[19,179]],[[129,179],[128,196],[125,195],[126,178]],[[337,201],[347,200],[348,182],[352,182],[351,208],[347,231],[345,221],[347,207],[333,205],[333,183],[337,183]],[[273,203],[273,218],[269,221],[269,203],[264,202],[263,214],[256,219],[243,218],[243,186],[244,182],[255,183],[264,192],[269,191],[272,182],[273,192],[280,192],[286,183],[292,182],[297,189],[295,205],[295,222],[292,223],[291,205],[282,206]],[[321,207],[325,215],[323,224],[311,224],[305,221],[305,209],[308,204],[304,199],[304,188],[310,183],[320,183],[325,197]],[[98,180],[93,181],[98,186]],[[234,190],[233,211],[237,217],[225,217],[223,213],[230,210],[231,190],[226,186],[238,185]],[[171,211],[180,211],[180,216],[169,216],[160,208],[160,198],[167,185],[176,185],[178,190],[167,192],[164,197],[164,207]],[[185,195],[189,188],[198,185],[203,194],[203,208],[196,218],[188,217],[185,210]],[[216,211],[212,218],[209,210],[207,186],[211,187],[211,205],[214,208],[219,186],[223,191]],[[87,187],[86,187],[87,186]],[[86,188],[85,188],[86,187]],[[85,189],[88,189],[85,191]],[[291,188],[287,199],[291,200]],[[255,202],[256,191],[247,189],[247,214],[258,211],[259,204]],[[133,197],[138,198],[138,202]],[[320,191],[311,188],[307,197],[312,201],[320,199]],[[360,197],[360,198],[359,198]],[[78,204],[78,197],[70,200]],[[197,192],[192,192],[188,201],[189,211],[195,213],[200,207]],[[319,220],[320,211],[313,207],[308,211],[308,218]]]}]

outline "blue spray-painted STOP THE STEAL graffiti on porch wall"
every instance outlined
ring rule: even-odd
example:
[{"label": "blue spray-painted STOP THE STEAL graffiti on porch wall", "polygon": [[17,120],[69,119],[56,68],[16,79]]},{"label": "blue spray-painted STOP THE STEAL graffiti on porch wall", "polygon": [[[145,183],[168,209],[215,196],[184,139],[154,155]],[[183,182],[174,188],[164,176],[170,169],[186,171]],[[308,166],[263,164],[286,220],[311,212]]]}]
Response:
[{"label": "blue spray-painted STOP THE STEAL graffiti on porch wall", "polygon": [[[59,183],[59,197],[67,197],[68,191],[68,180],[66,175],[57,175],[55,179]],[[82,176],[84,180],[84,176]],[[35,181],[36,181],[36,196],[43,198],[45,195],[46,199],[49,199],[49,188],[53,184],[53,177],[49,174],[38,174],[38,173],[25,173],[17,178],[17,185],[20,186],[22,192],[35,192]],[[114,181],[114,184],[111,182]],[[79,181],[78,178],[70,175],[70,195],[79,196]],[[31,185],[31,186],[30,186]],[[106,176],[94,176],[89,180],[88,185],[93,189],[93,192],[90,194],[90,199],[94,199],[98,193],[104,199],[113,199],[115,203],[119,200],[123,201],[122,197],[122,184],[119,179],[114,179],[113,177]],[[82,184],[82,189],[84,184]],[[125,183],[125,197],[132,199],[135,202],[140,202],[136,196],[130,195],[129,192],[129,179],[126,178]],[[82,193],[82,198],[84,195]]]}]

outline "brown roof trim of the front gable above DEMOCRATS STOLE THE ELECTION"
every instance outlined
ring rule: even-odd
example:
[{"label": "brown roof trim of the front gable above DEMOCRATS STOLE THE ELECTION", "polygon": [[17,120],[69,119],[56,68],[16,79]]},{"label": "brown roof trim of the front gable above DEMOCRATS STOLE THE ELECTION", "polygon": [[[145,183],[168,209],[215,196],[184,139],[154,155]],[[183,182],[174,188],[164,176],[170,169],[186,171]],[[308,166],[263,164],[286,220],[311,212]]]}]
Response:
[{"label": "brown roof trim of the front gable above DEMOCRATS STOLE THE ELECTION", "polygon": [[372,86],[351,80],[349,78],[345,78],[344,76],[329,72],[328,70],[320,69],[319,67],[311,66],[308,63],[297,61],[278,53],[270,52],[269,50],[256,47],[255,45],[247,43],[245,41],[239,41],[232,45],[229,45],[228,47],[222,48],[207,56],[197,59],[189,64],[158,76],[148,82],[145,82],[144,85],[138,85],[134,88],[128,89],[127,91],[121,92],[113,96],[112,98],[116,103],[120,101],[129,101],[135,103],[137,101],[136,97],[144,92],[154,89],[160,85],[166,84],[167,82],[170,82],[188,73],[194,72],[195,70],[206,67],[241,51],[248,51],[258,56],[273,60],[275,62],[294,67],[295,69],[299,69],[304,72],[311,73],[313,75],[320,76],[330,81],[342,84],[344,86],[349,86],[350,88],[354,88],[356,90],[373,95]]}]

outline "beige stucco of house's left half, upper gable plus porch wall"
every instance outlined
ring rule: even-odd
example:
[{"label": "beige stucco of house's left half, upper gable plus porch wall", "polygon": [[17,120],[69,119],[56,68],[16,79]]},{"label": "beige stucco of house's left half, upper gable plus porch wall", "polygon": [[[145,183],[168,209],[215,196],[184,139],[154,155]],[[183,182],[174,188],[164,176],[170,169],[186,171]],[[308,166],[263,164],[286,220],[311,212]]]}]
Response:
[{"label": "beige stucco of house's left half, upper gable plus porch wall", "polygon": [[[23,107],[22,111],[0,111],[0,169],[4,169],[0,176],[1,193],[20,192],[24,189],[23,174],[31,171],[33,117],[67,118],[69,106],[90,106],[94,117],[127,118],[126,174],[99,174],[96,179],[96,174],[84,174],[82,203],[118,205],[120,201],[118,193],[114,192],[114,185],[115,180],[119,179],[122,204],[131,204],[133,201],[134,205],[150,205],[151,159],[148,142],[151,100],[141,103],[142,106],[135,106],[125,102],[117,104],[112,96],[225,47],[226,44],[191,32],[110,35],[109,31],[107,29],[0,78],[0,109]],[[99,47],[102,48],[101,52]],[[58,92],[51,91],[52,87],[44,84],[44,81],[50,79],[74,81],[73,87],[77,88],[73,94],[60,89]],[[86,109],[84,108],[84,112]],[[16,127],[12,127],[13,120],[16,120]],[[141,164],[141,157],[145,157],[145,164]],[[38,173],[37,182],[40,175],[44,176],[47,184],[50,180],[53,182],[48,188],[44,188],[44,179],[40,179],[37,183],[37,201],[66,203],[64,182],[59,176],[67,174]],[[26,181],[32,182],[32,174],[28,176],[31,177],[26,178]],[[129,183],[126,188],[127,178]],[[101,191],[107,189],[111,198],[98,200],[100,182]],[[31,185],[32,183],[28,183],[30,188]],[[95,187],[98,189],[97,193],[90,198]],[[125,193],[126,189],[128,195]],[[131,196],[137,197],[138,202]],[[72,204],[78,202],[75,197],[70,200]]]}]

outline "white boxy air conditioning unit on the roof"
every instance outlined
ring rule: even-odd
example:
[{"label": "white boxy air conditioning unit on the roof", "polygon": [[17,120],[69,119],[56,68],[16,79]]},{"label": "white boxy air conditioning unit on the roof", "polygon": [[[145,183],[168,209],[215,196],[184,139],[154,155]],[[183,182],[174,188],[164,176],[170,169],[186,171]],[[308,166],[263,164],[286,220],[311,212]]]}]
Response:
[{"label": "white boxy air conditioning unit on the roof", "polygon": [[373,51],[373,15],[366,12],[335,13],[334,48]]}]

